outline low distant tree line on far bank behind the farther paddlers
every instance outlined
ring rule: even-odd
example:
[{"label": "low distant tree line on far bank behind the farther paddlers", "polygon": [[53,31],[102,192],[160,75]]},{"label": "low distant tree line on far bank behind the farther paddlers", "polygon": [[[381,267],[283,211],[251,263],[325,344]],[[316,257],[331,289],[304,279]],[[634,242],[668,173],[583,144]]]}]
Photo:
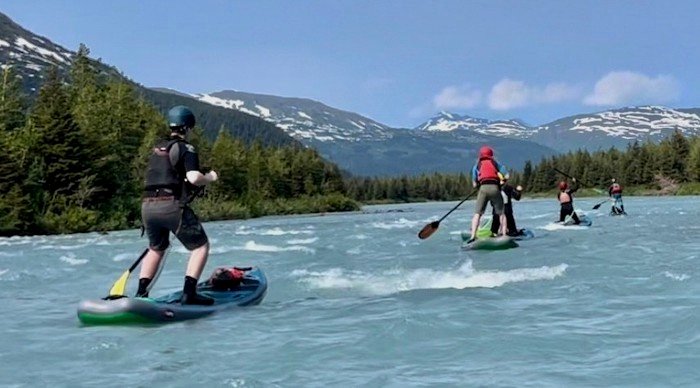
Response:
[{"label": "low distant tree line on far bank behind the farther paddlers", "polygon": [[[498,152],[498,150],[496,150]],[[616,178],[627,192],[638,194],[700,193],[700,139],[686,138],[676,131],[660,143],[633,143],[625,151],[576,151],[527,162],[512,171],[512,184],[521,184],[530,194],[556,191],[566,177],[555,169],[577,177],[582,187],[605,190]],[[631,186],[631,187],[630,187]],[[432,174],[388,179],[353,178],[348,194],[363,202],[410,202],[456,200],[471,191],[471,178],[464,174]],[[593,192],[595,193],[595,192]]]}]

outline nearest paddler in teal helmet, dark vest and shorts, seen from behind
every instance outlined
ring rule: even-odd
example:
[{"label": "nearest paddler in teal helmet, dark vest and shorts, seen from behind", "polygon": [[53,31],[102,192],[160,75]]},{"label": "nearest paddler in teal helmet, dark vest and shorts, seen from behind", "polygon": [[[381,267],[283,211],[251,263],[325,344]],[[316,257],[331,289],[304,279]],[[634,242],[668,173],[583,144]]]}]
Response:
[{"label": "nearest paddler in teal helmet, dark vest and shorts, seen from behind", "polygon": [[[192,199],[192,193],[199,187],[216,181],[218,175],[214,171],[206,174],[200,171],[199,156],[194,146],[186,140],[194,125],[195,117],[189,108],[176,106],[170,109],[170,136],[158,142],[149,157],[141,204],[141,217],[149,245],[143,257],[136,296],[148,296],[149,286],[170,244],[170,232],[173,232],[191,252],[182,290],[182,304],[211,305],[214,299],[197,293],[197,280],[209,255],[209,239],[188,203]],[[128,274],[124,283],[126,278]],[[117,291],[123,295],[123,288]],[[110,294],[114,296],[119,292]]]}]

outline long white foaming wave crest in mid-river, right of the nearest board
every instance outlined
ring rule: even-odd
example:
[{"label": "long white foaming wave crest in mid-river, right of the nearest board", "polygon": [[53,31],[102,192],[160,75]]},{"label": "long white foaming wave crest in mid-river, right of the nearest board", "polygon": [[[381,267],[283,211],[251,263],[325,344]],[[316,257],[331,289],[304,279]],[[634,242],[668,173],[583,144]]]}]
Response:
[{"label": "long white foaming wave crest in mid-river, right of the nearest board", "polygon": [[451,271],[415,269],[365,273],[332,268],[321,272],[295,270],[291,276],[312,289],[354,289],[374,295],[387,295],[409,290],[494,288],[507,283],[551,280],[562,276],[567,267],[567,264],[559,264],[554,267],[509,271],[475,271],[469,261]]}]

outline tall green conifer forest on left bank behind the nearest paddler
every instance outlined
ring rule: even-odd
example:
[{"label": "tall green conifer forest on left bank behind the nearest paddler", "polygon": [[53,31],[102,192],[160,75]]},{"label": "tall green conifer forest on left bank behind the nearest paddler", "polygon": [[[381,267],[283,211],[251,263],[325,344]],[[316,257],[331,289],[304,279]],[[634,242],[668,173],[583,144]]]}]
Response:
[{"label": "tall green conifer forest on left bank behind the nearest paddler", "polygon": [[[67,77],[50,69],[31,101],[12,68],[3,69],[0,235],[139,224],[146,160],[169,132],[157,107],[133,84],[100,72],[88,54],[81,46]],[[190,139],[202,165],[220,175],[195,202],[204,220],[358,209],[337,166],[316,151],[231,132],[222,122],[215,139],[201,128]]]}]

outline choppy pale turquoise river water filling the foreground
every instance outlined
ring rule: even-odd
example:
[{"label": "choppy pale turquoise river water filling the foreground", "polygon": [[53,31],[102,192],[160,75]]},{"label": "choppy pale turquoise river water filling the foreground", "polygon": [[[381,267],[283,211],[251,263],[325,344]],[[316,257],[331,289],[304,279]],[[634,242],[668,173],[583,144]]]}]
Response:
[{"label": "choppy pale turquoise river water filling the foreground", "polygon": [[[205,224],[208,275],[256,265],[259,306],[162,326],[82,326],[146,240],[137,230],[0,239],[0,386],[691,387],[700,385],[700,198],[523,200],[536,238],[462,251],[473,202]],[[181,287],[175,243],[152,291]],[[136,276],[133,277],[134,280]],[[132,282],[133,284],[134,282]]]}]

